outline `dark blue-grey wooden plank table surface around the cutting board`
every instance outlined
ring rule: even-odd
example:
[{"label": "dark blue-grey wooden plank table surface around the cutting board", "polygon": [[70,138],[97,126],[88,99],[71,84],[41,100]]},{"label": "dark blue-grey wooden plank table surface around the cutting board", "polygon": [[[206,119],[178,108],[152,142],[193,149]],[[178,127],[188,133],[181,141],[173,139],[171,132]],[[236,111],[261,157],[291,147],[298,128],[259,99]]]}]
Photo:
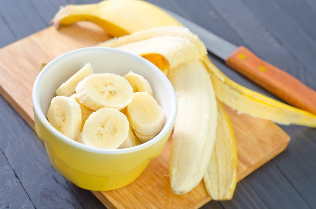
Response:
[{"label": "dark blue-grey wooden plank table surface around the cutting board", "polygon": [[[60,5],[94,2],[98,0],[1,0],[0,46],[50,26]],[[315,0],[150,2],[248,47],[316,89]],[[211,60],[234,81],[273,97],[216,57]],[[291,136],[289,147],[239,182],[232,200],[211,201],[204,208],[316,208],[316,129],[282,128]],[[104,207],[90,191],[53,169],[43,143],[2,97],[0,151],[0,208]]]}]

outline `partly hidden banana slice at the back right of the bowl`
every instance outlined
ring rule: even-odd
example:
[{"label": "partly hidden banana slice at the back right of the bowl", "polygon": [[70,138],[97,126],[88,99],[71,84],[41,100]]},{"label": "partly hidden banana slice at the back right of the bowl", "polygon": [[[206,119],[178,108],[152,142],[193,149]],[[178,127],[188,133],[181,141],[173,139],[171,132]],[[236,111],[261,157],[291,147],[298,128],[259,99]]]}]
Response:
[{"label": "partly hidden banana slice at the back right of the bowl", "polygon": [[124,75],[124,78],[131,84],[134,92],[146,92],[151,96],[154,96],[153,90],[149,82],[141,75],[130,71]]}]

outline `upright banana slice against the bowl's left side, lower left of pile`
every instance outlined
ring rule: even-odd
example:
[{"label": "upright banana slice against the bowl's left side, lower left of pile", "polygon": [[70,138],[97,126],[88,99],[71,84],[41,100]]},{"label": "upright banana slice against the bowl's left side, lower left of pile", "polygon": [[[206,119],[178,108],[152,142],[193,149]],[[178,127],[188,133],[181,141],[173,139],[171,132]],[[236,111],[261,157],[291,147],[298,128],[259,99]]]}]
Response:
[{"label": "upright banana slice against the bowl's left side, lower left of pile", "polygon": [[75,99],[56,96],[47,111],[48,122],[60,133],[75,140],[81,127],[81,109]]}]

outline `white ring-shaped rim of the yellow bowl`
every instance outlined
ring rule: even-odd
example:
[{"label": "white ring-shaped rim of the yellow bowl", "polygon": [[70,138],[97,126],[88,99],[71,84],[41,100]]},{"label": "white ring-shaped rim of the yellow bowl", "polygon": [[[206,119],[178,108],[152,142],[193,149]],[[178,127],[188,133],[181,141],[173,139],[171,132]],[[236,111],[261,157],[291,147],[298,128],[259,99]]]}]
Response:
[{"label": "white ring-shaped rim of the yellow bowl", "polygon": [[[148,66],[149,70],[155,72],[156,75],[158,75],[158,79],[160,79],[164,85],[167,87],[167,89],[169,89],[170,93],[171,93],[171,112],[170,112],[170,116],[167,119],[167,122],[165,124],[165,126],[163,127],[163,129],[159,132],[159,134],[157,134],[153,139],[137,145],[137,146],[133,146],[133,147],[129,147],[129,148],[123,148],[123,149],[103,149],[103,148],[97,148],[97,147],[92,147],[92,146],[87,146],[84,144],[81,144],[75,140],[72,140],[70,138],[68,138],[67,136],[61,134],[59,131],[57,131],[46,119],[46,116],[44,115],[44,113],[41,110],[40,107],[40,100],[39,100],[39,91],[38,89],[38,85],[40,83],[41,78],[47,73],[49,72],[49,69],[60,59],[73,54],[73,53],[77,53],[79,51],[90,51],[90,50],[106,50],[106,51],[115,51],[115,52],[119,52],[119,53],[123,53],[126,54],[130,57],[132,57],[133,59],[138,59],[140,60],[142,63],[144,63],[145,65]],[[116,49],[116,48],[109,48],[109,47],[98,47],[98,46],[94,46],[94,47],[85,47],[85,48],[80,48],[80,49],[76,49],[73,51],[69,51],[66,52],[56,58],[54,58],[51,62],[49,62],[41,71],[40,73],[37,75],[36,80],[34,82],[33,85],[33,90],[32,90],[32,102],[33,102],[33,109],[34,109],[34,114],[36,114],[38,120],[40,121],[40,123],[53,135],[55,136],[57,139],[63,141],[64,143],[75,147],[77,149],[80,149],[82,151],[86,151],[86,152],[92,152],[92,153],[97,153],[97,154],[127,154],[127,153],[131,153],[131,152],[137,152],[140,150],[143,150],[149,146],[154,145],[155,143],[157,143],[158,141],[160,141],[163,136],[165,136],[167,134],[168,131],[170,131],[171,128],[173,128],[173,124],[175,122],[175,118],[177,115],[177,109],[178,109],[178,103],[177,103],[177,97],[176,94],[174,92],[173,86],[171,84],[171,82],[169,81],[169,79],[167,78],[167,76],[158,68],[156,67],[153,63],[149,62],[147,59],[132,54],[130,52],[127,51],[123,51],[120,49]]]}]

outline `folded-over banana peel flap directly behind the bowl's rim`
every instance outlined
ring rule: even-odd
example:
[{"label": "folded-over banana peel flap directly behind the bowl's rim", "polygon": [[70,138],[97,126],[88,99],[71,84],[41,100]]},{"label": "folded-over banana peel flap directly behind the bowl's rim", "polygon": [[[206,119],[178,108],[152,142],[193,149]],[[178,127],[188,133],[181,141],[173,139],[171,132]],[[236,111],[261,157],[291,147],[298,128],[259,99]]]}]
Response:
[{"label": "folded-over banana peel flap directly behind the bowl's rim", "polygon": [[143,56],[166,75],[169,69],[207,54],[197,35],[179,26],[152,28],[107,40],[99,46],[116,47]]}]

